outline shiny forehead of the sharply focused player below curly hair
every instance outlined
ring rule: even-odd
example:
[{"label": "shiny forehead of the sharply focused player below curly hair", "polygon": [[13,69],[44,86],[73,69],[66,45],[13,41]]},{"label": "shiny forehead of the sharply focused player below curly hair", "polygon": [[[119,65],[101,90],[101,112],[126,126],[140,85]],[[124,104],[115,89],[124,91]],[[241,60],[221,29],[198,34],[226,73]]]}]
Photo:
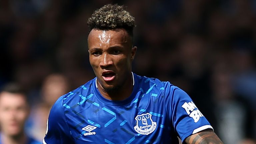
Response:
[{"label": "shiny forehead of the sharply focused player below curly hair", "polygon": [[98,30],[92,29],[88,35],[88,46],[131,44],[131,37],[125,29]]}]

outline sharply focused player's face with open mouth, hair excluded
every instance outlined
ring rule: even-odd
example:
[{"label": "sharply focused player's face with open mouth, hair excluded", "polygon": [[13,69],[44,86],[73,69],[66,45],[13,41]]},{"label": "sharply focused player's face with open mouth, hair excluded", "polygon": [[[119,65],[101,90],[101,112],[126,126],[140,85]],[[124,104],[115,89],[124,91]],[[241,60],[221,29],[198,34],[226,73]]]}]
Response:
[{"label": "sharply focused player's face with open mouth, hair excluded", "polygon": [[137,48],[124,29],[93,29],[88,36],[90,64],[105,90],[122,87],[131,77],[131,63]]}]

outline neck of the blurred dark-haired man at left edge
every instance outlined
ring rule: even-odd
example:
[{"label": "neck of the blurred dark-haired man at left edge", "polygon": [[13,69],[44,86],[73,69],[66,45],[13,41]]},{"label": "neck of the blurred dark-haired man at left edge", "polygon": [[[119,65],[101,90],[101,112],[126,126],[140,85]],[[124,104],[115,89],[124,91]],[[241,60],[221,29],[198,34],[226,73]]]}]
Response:
[{"label": "neck of the blurred dark-haired man at left edge", "polygon": [[24,132],[14,136],[2,133],[1,139],[3,144],[25,144],[27,141],[27,137]]}]

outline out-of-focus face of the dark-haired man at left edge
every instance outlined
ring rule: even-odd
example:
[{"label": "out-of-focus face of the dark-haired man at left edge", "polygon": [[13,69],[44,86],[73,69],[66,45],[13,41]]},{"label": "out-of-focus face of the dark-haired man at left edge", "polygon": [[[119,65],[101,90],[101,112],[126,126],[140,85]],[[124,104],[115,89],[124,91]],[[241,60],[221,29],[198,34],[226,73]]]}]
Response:
[{"label": "out-of-focus face of the dark-haired man at left edge", "polygon": [[9,136],[20,134],[23,131],[28,113],[24,95],[0,93],[0,127],[2,133]]}]

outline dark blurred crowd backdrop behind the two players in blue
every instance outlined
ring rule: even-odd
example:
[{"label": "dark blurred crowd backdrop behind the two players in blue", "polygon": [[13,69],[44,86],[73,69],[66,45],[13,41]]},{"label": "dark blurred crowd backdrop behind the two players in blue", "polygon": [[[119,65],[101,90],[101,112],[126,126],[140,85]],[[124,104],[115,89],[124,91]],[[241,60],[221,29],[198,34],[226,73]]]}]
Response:
[{"label": "dark blurred crowd backdrop behind the two players in blue", "polygon": [[109,3],[135,17],[133,72],[186,91],[225,144],[256,138],[256,0],[1,0],[0,87],[26,89],[42,140],[55,100],[95,75],[87,20]]}]

